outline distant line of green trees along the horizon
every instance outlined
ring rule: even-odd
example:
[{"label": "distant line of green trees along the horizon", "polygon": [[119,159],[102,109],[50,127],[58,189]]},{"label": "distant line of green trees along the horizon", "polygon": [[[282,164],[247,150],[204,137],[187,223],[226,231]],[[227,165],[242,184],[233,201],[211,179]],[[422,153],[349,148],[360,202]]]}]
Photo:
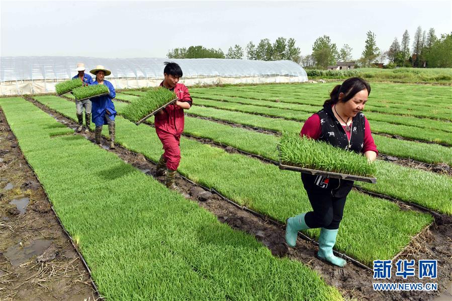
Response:
[{"label": "distant line of green trees along the horizon", "polygon": [[[225,54],[221,49],[206,48],[204,46],[190,46],[188,48],[174,48],[168,51],[168,58],[229,58],[248,60],[291,60],[305,68],[326,69],[328,65],[335,65],[337,61],[352,61],[352,48],[344,44],[339,50],[329,36],[318,37],[312,52],[300,55],[300,48],[296,47],[293,38],[279,37],[273,43],[269,39],[261,39],[257,45],[250,41],[243,50],[240,45],[229,47]],[[370,67],[375,63],[389,61],[389,67],[452,67],[452,33],[436,37],[435,30],[422,31],[419,26],[414,34],[414,41],[410,48],[408,30],[402,35],[401,43],[397,37],[387,51],[377,47],[376,35],[372,31],[366,34],[366,42],[361,57],[355,60],[357,66]]]}]

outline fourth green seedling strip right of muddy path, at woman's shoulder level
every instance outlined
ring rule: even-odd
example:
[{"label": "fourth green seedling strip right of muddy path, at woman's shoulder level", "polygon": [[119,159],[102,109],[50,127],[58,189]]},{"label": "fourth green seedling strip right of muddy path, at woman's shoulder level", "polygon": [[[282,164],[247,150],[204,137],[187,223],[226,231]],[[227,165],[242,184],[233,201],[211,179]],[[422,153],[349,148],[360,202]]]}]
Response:
[{"label": "fourth green seedling strip right of muddy path, at woman's shoulder level", "polygon": [[[234,103],[226,103],[219,101],[212,101],[210,99],[196,99],[195,105],[205,106],[216,109],[237,111],[243,113],[257,114],[262,116],[278,117],[287,120],[306,121],[312,114],[302,114],[300,112],[294,112],[285,109],[266,108],[253,105],[241,105]],[[373,121],[371,123],[372,131],[375,133],[383,133],[389,135],[400,135],[409,139],[415,139],[419,141],[429,141],[436,143],[444,143],[452,145],[452,133],[428,129],[420,131],[416,127],[396,125],[387,122]]]}]

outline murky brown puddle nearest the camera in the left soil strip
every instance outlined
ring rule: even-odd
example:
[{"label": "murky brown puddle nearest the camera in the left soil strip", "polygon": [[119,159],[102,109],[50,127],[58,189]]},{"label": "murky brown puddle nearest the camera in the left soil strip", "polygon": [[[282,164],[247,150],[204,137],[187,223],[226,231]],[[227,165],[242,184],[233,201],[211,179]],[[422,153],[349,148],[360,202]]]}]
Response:
[{"label": "murky brown puddle nearest the camera in the left soil strip", "polygon": [[33,256],[41,255],[52,242],[46,239],[38,239],[35,241],[20,243],[9,247],[3,255],[11,262],[11,265],[18,266],[27,262]]}]

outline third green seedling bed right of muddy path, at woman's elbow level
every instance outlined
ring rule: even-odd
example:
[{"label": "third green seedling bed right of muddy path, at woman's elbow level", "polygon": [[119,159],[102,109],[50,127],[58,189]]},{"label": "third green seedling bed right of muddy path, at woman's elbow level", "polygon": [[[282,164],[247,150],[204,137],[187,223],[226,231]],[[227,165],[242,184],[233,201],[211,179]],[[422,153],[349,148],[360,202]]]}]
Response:
[{"label": "third green seedling bed right of muddy path, at woman's elbow level", "polygon": [[[303,123],[296,121],[284,120],[280,118],[266,118],[263,116],[218,110],[208,107],[192,106],[189,113],[200,117],[214,118],[277,132],[300,132],[303,127]],[[427,163],[444,162],[452,165],[452,152],[449,147],[437,144],[392,139],[379,135],[373,135],[373,137],[379,151],[383,154],[398,156],[401,158],[411,158]]]}]

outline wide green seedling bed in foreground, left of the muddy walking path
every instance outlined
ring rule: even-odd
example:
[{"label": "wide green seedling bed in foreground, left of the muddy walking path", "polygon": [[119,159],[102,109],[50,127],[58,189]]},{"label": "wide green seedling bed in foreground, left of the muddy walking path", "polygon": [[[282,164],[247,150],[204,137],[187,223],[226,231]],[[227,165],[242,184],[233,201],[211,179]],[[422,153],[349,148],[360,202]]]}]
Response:
[{"label": "wide green seedling bed in foreground, left of the muddy walking path", "polygon": [[106,299],[342,299],[115,154],[78,135],[50,139],[61,125],[24,99],[1,105]]}]

